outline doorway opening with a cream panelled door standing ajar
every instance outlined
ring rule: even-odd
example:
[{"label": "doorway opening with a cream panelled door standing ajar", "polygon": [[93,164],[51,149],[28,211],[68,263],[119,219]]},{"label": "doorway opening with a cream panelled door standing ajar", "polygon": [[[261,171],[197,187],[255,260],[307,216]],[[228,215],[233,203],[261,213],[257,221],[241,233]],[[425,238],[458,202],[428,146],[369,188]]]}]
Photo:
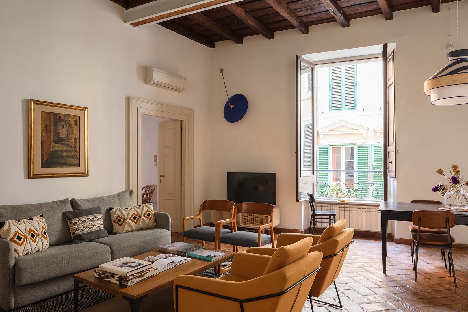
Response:
[{"label": "doorway opening with a cream panelled door standing ajar", "polygon": [[171,216],[172,231],[181,232],[182,133],[181,121],[142,115],[142,183],[154,185],[154,211]]}]

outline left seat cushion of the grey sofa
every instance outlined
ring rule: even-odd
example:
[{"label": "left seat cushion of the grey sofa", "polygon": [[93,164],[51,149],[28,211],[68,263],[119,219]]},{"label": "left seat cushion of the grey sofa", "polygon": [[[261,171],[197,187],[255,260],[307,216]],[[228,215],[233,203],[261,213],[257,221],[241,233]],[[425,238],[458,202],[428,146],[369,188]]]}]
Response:
[{"label": "left seat cushion of the grey sofa", "polygon": [[15,284],[42,282],[76,273],[110,261],[109,247],[92,242],[64,244],[18,257],[15,260]]}]

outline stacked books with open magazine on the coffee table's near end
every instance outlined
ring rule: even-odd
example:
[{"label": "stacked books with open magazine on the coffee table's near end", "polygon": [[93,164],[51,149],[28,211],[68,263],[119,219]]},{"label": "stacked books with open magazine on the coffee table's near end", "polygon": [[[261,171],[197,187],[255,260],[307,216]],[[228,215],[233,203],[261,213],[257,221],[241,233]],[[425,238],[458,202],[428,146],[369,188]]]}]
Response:
[{"label": "stacked books with open magazine on the coffee table's near end", "polygon": [[158,254],[143,260],[124,257],[101,264],[94,270],[94,276],[112,283],[131,286],[191,260],[174,254]]}]

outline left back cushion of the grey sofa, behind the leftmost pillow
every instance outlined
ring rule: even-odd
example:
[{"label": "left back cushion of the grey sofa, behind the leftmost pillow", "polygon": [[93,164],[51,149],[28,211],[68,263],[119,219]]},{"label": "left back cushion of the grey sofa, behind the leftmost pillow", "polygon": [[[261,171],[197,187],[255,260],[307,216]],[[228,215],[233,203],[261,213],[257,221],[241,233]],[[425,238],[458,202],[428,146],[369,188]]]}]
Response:
[{"label": "left back cushion of the grey sofa, behind the leftmost pillow", "polygon": [[34,203],[23,205],[0,205],[0,221],[21,220],[43,214],[47,223],[49,245],[59,245],[72,241],[63,212],[72,211],[68,198],[49,203]]}]

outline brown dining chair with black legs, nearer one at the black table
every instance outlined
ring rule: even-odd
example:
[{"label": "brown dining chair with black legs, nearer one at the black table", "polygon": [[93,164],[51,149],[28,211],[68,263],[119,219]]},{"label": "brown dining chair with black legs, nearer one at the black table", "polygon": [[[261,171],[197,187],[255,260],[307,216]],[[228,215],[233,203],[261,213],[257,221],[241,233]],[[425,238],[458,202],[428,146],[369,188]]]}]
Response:
[{"label": "brown dining chair with black legs, nearer one at the black table", "polygon": [[[417,232],[411,233],[411,240],[416,243],[416,255],[414,261],[414,280],[417,279],[417,260],[419,247],[444,248],[448,252],[449,274],[453,275],[453,283],[457,287],[455,268],[453,266],[452,244],[455,239],[450,235],[450,229],[455,226],[455,215],[450,211],[415,210],[412,214],[413,225],[417,226]],[[421,228],[434,230],[446,229],[445,234],[423,233]],[[451,272],[450,272],[451,271]]]}]

